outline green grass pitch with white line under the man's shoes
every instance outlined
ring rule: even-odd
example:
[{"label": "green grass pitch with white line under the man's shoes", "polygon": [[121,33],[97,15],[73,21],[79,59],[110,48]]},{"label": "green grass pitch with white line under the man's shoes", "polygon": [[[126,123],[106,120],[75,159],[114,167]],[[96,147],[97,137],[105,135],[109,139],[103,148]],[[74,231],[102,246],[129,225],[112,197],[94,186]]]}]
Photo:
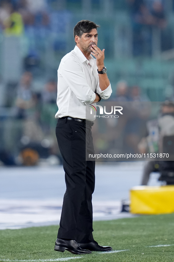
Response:
[{"label": "green grass pitch with white line under the man's shoes", "polygon": [[31,227],[0,230],[0,261],[174,261],[174,214],[100,221],[94,222],[93,227],[94,238],[100,245],[110,245],[119,252],[87,255],[56,252],[54,243],[58,226]]}]

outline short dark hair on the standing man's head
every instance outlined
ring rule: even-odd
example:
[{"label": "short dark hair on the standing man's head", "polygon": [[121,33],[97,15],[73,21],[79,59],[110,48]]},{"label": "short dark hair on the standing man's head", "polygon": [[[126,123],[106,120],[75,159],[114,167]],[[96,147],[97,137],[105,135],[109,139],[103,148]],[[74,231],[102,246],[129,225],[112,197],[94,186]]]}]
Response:
[{"label": "short dark hair on the standing man's head", "polygon": [[97,27],[100,27],[100,25],[89,20],[81,20],[74,26],[74,38],[76,35],[81,38],[83,33],[89,33],[92,29],[97,29]]}]

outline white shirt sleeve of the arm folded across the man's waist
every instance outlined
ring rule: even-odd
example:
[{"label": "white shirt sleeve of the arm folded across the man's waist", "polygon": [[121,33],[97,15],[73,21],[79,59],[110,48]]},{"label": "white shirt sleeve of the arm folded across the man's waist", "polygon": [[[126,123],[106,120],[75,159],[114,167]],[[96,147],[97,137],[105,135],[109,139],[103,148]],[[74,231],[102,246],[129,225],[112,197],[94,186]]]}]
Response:
[{"label": "white shirt sleeve of the arm folded across the man's waist", "polygon": [[85,104],[91,104],[95,100],[95,92],[87,84],[82,66],[76,59],[67,58],[58,72],[79,100]]}]

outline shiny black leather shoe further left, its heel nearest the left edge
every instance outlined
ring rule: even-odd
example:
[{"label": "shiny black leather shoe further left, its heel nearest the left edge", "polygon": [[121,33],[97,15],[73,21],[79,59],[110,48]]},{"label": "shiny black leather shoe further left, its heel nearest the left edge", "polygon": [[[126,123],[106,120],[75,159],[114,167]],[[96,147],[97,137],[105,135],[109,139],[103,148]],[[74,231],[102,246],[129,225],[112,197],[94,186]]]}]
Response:
[{"label": "shiny black leather shoe further left, its heel nearest the left edge", "polygon": [[76,240],[63,240],[61,238],[57,238],[54,250],[64,252],[65,249],[73,254],[90,254],[91,253],[90,250],[84,250],[80,248]]}]

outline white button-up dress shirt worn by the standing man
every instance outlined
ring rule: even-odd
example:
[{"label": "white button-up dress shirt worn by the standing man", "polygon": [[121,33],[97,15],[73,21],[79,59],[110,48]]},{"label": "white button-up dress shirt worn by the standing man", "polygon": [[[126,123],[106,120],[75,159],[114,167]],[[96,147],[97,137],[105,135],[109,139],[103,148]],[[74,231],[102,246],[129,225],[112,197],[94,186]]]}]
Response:
[{"label": "white button-up dress shirt worn by the standing man", "polygon": [[57,76],[59,110],[55,117],[69,116],[94,121],[93,115],[88,114],[86,117],[86,107],[95,100],[95,92],[102,99],[108,99],[112,93],[111,85],[104,91],[100,89],[96,59],[90,55],[87,60],[76,45],[74,50],[62,58]]}]

